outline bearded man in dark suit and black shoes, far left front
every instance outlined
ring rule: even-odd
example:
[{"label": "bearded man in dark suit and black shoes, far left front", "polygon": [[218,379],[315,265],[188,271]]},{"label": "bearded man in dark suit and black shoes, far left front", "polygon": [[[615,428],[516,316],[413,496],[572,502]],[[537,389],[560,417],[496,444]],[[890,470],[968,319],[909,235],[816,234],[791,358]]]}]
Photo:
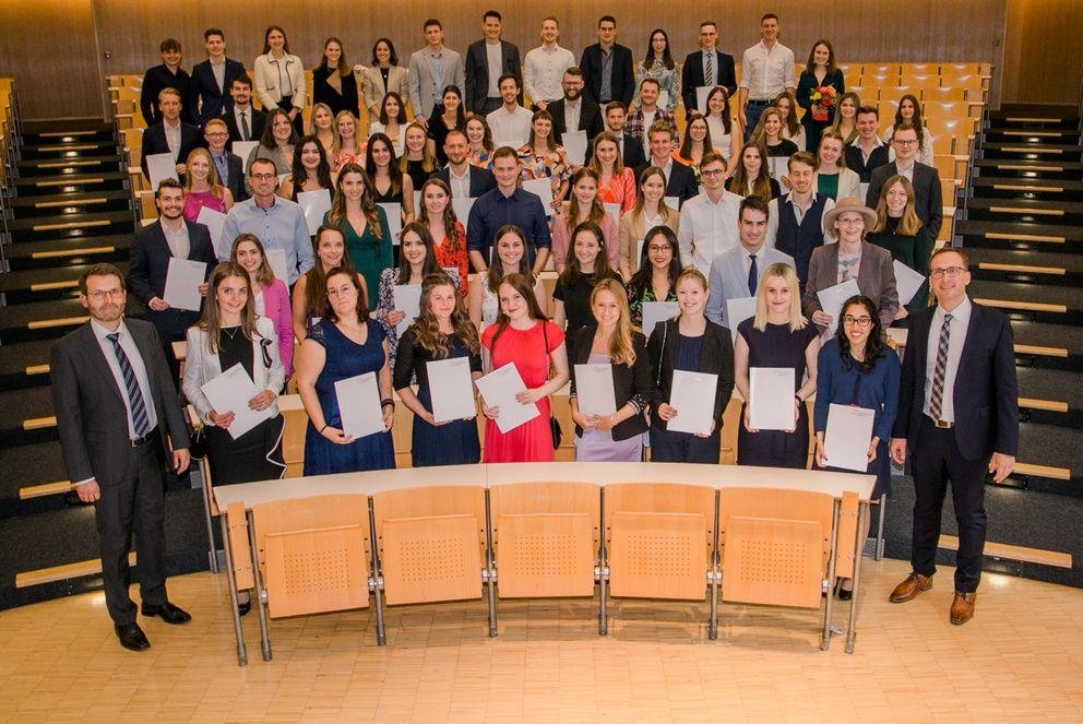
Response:
[{"label": "bearded man in dark suit and black shoes, far left front", "polygon": [[91,321],[52,347],[52,404],[69,479],[80,500],[95,506],[105,601],[120,645],[150,648],[128,595],[128,550],[135,534],[143,616],[185,624],[191,616],[166,596],[165,461],[177,473],[189,463],[188,427],[167,379],[154,327],[124,320],[124,280],[96,264],[80,281],[79,300]]}]

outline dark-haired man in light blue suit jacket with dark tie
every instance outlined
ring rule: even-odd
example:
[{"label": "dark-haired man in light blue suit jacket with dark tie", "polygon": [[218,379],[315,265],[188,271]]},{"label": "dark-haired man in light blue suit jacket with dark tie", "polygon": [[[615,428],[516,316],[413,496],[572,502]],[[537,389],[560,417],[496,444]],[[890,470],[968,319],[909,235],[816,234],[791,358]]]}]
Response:
[{"label": "dark-haired man in light blue suit jacket with dark tie", "polygon": [[741,201],[737,216],[740,244],[715,257],[711,262],[707,284],[707,319],[733,329],[743,320],[730,320],[726,309],[729,299],[754,297],[763,272],[771,264],[794,265],[794,258],[765,244],[767,237],[767,204],[754,195]]}]

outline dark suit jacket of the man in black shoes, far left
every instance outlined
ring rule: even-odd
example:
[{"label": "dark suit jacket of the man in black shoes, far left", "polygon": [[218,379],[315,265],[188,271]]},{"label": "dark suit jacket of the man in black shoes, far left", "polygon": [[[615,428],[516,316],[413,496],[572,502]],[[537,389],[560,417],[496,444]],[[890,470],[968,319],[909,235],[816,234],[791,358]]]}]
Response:
[{"label": "dark suit jacket of the man in black shoes, far left", "polygon": [[[169,460],[170,449],[187,449],[189,439],[162,342],[148,322],[126,319],[124,324],[146,367],[150,402],[154,404],[162,444],[166,460]],[[93,477],[102,487],[119,485],[129,466],[126,393],[117,384],[90,322],[53,345],[49,370],[52,406],[69,479],[80,482]]]}]

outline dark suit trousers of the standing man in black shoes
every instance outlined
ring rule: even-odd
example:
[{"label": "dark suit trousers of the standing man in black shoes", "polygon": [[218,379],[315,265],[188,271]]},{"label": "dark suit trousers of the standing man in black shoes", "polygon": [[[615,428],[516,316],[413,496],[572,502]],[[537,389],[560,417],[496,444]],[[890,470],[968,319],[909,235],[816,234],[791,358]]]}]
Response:
[{"label": "dark suit trousers of the standing man in black shoes", "polygon": [[133,624],[135,604],[128,595],[131,570],[128,551],[135,534],[140,597],[145,604],[166,602],[165,578],[165,483],[163,450],[157,429],[143,444],[127,448],[128,470],[123,479],[103,485],[95,506],[102,545],[102,577],[106,607],[114,624]]}]

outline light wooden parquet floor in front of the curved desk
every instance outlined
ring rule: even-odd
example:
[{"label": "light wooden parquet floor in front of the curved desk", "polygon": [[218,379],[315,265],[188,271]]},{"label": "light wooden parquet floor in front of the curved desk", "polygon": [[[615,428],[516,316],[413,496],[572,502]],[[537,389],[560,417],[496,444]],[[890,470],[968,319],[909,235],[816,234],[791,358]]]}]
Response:
[{"label": "light wooden parquet floor in front of the curved desk", "polygon": [[[857,651],[821,652],[817,615],[724,605],[619,603],[610,634],[590,602],[396,608],[259,627],[236,665],[224,575],[172,579],[194,620],[141,619],[121,649],[100,593],[0,614],[0,721],[17,722],[1040,722],[1083,721],[1083,591],[986,575],[977,616],[948,622],[951,569],[893,605],[901,561],[866,561]],[[836,607],[843,624],[844,607]]]}]

